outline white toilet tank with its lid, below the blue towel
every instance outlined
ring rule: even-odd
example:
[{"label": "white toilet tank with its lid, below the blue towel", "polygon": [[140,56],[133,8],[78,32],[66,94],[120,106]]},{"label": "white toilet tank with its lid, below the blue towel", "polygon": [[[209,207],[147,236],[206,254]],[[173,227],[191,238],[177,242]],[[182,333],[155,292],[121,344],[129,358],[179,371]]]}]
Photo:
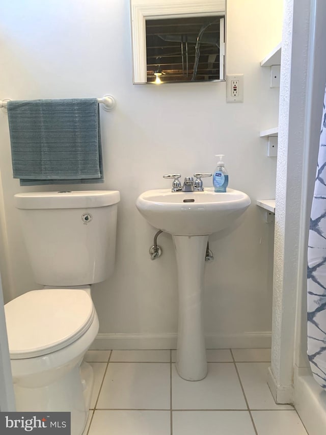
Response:
[{"label": "white toilet tank with its lid, below the blue towel", "polygon": [[113,272],[117,190],[17,193],[35,281],[46,286],[99,283]]}]

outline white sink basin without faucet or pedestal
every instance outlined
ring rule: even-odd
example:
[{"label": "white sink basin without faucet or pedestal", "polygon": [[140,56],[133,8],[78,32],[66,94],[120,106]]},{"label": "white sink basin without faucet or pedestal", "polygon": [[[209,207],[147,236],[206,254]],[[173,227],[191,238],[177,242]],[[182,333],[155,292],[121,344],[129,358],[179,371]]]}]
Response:
[{"label": "white sink basin without faucet or pedestal", "polygon": [[136,202],[140,213],[155,228],[176,236],[204,236],[229,226],[249,206],[246,193],[227,189],[215,193],[147,190]]}]

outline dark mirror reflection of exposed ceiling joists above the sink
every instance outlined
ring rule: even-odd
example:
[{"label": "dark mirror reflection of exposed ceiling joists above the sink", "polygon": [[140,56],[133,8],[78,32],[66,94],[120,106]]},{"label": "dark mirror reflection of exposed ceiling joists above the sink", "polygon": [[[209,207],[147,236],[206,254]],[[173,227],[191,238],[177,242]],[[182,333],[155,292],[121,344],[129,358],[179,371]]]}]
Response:
[{"label": "dark mirror reflection of exposed ceiling joists above the sink", "polygon": [[147,82],[220,80],[221,18],[146,20]]}]

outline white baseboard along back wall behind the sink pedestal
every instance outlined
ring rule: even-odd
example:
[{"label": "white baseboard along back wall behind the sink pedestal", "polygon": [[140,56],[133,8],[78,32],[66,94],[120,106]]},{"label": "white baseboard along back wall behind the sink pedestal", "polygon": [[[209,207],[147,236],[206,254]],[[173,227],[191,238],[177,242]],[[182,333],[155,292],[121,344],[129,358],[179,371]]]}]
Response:
[{"label": "white baseboard along back wall behind the sink pedestal", "polygon": [[[269,348],[271,332],[243,332],[242,334],[209,335],[208,349]],[[176,349],[177,334],[98,334],[90,349]]]}]

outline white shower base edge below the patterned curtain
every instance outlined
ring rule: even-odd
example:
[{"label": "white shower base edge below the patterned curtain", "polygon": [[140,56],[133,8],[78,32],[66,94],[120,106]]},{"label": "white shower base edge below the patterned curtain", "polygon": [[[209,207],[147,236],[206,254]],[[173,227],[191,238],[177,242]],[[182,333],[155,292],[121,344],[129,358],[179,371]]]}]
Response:
[{"label": "white shower base edge below the patterned curtain", "polygon": [[308,367],[294,367],[294,406],[309,435],[325,434],[326,394]]}]

